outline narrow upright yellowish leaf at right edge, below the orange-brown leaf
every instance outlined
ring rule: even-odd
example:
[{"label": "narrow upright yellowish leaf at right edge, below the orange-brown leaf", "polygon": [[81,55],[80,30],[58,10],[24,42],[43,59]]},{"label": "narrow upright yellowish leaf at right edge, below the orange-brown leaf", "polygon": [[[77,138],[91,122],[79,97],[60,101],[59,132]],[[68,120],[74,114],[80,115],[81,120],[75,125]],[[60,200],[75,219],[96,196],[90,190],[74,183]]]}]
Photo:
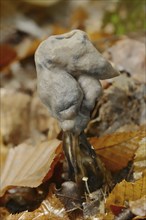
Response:
[{"label": "narrow upright yellowish leaf at right edge, below the orange-brown leaf", "polygon": [[139,142],[140,147],[135,152],[134,157],[134,179],[142,177],[142,173],[146,171],[146,137]]}]

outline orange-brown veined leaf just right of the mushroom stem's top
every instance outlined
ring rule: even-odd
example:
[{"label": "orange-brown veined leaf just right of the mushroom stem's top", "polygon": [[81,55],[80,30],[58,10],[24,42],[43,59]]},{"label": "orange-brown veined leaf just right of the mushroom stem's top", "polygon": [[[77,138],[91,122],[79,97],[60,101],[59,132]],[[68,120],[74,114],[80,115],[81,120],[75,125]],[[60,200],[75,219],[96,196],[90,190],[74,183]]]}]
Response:
[{"label": "orange-brown veined leaf just right of the mushroom stem's top", "polygon": [[91,138],[90,143],[101,157],[105,166],[115,172],[127,166],[139,148],[140,141],[146,136],[145,126],[136,131],[121,132],[105,135],[100,138]]}]

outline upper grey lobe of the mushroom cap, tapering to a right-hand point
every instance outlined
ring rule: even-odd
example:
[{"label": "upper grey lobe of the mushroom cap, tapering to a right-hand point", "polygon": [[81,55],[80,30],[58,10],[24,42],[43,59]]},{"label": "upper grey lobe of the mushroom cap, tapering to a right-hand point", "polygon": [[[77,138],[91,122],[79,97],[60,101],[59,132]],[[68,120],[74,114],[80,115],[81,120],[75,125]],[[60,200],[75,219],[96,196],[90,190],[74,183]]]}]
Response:
[{"label": "upper grey lobe of the mushroom cap, tapering to a right-hand point", "polygon": [[63,68],[74,77],[85,73],[102,80],[119,75],[81,30],[50,36],[38,47],[35,61],[48,69]]}]

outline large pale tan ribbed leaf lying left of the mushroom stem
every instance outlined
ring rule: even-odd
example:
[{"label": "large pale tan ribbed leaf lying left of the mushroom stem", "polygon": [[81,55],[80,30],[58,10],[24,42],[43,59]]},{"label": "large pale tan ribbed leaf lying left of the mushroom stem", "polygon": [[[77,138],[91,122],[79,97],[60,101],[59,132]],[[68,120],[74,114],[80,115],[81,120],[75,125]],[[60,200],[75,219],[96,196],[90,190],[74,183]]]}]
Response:
[{"label": "large pale tan ribbed leaf lying left of the mushroom stem", "polygon": [[1,176],[0,196],[11,186],[39,186],[61,151],[59,144],[60,141],[54,139],[38,146],[23,143],[10,149]]}]

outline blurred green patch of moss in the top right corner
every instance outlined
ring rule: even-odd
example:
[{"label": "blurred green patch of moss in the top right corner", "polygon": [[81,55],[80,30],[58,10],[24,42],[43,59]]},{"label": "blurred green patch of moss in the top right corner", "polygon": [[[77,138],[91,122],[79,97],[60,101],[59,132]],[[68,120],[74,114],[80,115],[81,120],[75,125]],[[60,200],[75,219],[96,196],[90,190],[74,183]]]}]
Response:
[{"label": "blurred green patch of moss in the top right corner", "polygon": [[119,0],[116,10],[105,14],[103,28],[111,23],[115,27],[114,33],[118,35],[144,30],[145,3],[145,0]]}]

